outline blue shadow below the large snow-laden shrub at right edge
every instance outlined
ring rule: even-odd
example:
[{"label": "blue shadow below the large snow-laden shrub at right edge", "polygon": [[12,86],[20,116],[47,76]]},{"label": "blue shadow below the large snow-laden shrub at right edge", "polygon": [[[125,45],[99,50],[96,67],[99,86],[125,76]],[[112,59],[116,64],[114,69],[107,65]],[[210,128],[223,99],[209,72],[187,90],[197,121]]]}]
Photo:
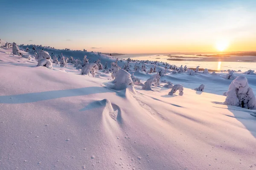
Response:
[{"label": "blue shadow below the large snow-laden shrub at right edge", "polygon": [[256,138],[256,117],[252,116],[255,114],[255,110],[239,108],[236,106],[227,106],[227,109],[234,114],[232,117],[241,122]]}]

